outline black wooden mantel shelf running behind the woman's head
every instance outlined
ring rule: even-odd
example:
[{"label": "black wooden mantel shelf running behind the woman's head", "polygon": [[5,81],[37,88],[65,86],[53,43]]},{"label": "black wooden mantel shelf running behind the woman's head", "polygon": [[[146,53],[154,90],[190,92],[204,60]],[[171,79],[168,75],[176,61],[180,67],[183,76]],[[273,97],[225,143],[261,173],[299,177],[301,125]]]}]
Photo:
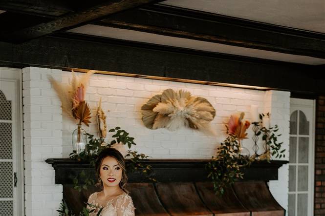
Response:
[{"label": "black wooden mantel shelf running behind the woman's head", "polygon": [[[92,176],[96,182],[94,168],[88,161],[78,161],[70,158],[49,158],[47,163],[55,169],[56,184],[73,184],[76,177],[83,170],[86,175]],[[208,159],[149,159],[143,164],[152,166],[154,178],[160,183],[169,182],[199,182],[208,181],[205,164]],[[126,160],[128,163],[128,160]],[[244,180],[269,181],[278,179],[278,169],[288,163],[284,160],[258,161],[245,169]],[[130,183],[144,183],[150,180],[141,173],[128,173]]]}]

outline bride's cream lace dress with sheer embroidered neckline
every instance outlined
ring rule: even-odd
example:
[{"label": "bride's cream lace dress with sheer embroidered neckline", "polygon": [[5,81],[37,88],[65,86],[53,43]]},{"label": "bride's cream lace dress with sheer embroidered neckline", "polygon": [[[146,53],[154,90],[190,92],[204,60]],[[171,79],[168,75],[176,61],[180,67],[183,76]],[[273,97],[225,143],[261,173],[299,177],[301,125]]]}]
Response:
[{"label": "bride's cream lace dress with sheer embroidered neckline", "polygon": [[101,216],[134,216],[134,206],[131,196],[123,193],[108,201],[101,201],[97,197],[98,192],[91,194],[88,198],[88,203],[96,207],[89,207],[87,209],[95,209],[89,216],[97,216],[98,211],[103,208]]}]

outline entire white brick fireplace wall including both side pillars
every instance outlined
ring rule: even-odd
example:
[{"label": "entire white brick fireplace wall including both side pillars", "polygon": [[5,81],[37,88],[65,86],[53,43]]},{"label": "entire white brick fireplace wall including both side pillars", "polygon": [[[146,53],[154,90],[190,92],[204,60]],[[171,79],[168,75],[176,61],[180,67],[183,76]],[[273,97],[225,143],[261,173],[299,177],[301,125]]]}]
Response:
[{"label": "entire white brick fireplace wall including both side pillars", "polygon": [[[24,98],[25,166],[27,168],[25,177],[26,187],[29,188],[26,191],[26,213],[28,213],[26,215],[37,215],[43,211],[46,211],[46,215],[49,216],[57,215],[55,210],[58,209],[62,198],[62,187],[54,185],[54,171],[43,160],[48,157],[68,157],[72,152],[71,134],[76,128],[76,122],[65,114],[61,116],[60,102],[46,76],[53,74],[57,79],[62,79],[62,82],[69,83],[71,73],[34,67],[25,68],[23,73],[24,97],[26,97]],[[141,121],[141,106],[149,98],[168,88],[184,89],[195,96],[207,98],[217,111],[212,121],[212,128],[217,136],[207,137],[191,129],[174,132],[166,129],[147,129]],[[245,112],[246,118],[250,120],[251,104],[258,105],[260,113],[271,111],[271,124],[280,126],[283,131],[282,139],[287,144],[289,96],[289,93],[281,91],[265,92],[95,74],[89,81],[86,100],[94,116],[97,102],[102,97],[103,109],[110,110],[107,112],[108,127],[121,126],[128,131],[130,136],[135,137],[137,143],[136,148],[132,149],[140,153],[145,153],[152,158],[211,158],[218,143],[226,137],[224,123],[228,121],[229,116]],[[84,129],[91,134],[96,134],[95,118],[91,121],[90,127],[84,126]],[[249,137],[252,134],[250,128]],[[251,139],[245,139],[243,145],[253,152]],[[262,149],[260,146],[260,152]],[[272,194],[285,209],[287,178],[288,169],[284,166],[280,169],[279,180],[270,182]],[[38,202],[41,202],[41,205],[36,204]]]}]

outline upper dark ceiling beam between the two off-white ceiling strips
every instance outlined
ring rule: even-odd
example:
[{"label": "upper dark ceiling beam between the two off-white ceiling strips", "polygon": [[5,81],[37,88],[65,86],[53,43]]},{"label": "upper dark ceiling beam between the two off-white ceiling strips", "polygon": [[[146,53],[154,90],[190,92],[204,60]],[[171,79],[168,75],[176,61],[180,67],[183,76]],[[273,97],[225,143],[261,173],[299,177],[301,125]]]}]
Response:
[{"label": "upper dark ceiling beam between the two off-white ceiling strips", "polygon": [[93,24],[325,59],[325,34],[163,4]]}]

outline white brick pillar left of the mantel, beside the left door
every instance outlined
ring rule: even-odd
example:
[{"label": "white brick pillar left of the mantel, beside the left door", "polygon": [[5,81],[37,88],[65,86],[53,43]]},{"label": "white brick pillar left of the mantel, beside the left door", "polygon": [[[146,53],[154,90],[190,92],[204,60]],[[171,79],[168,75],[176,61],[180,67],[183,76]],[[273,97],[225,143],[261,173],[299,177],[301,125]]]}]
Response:
[{"label": "white brick pillar left of the mantel, beside the left door", "polygon": [[62,157],[62,110],[47,79],[61,80],[61,70],[22,69],[26,216],[57,216],[62,185],[45,159]]}]

